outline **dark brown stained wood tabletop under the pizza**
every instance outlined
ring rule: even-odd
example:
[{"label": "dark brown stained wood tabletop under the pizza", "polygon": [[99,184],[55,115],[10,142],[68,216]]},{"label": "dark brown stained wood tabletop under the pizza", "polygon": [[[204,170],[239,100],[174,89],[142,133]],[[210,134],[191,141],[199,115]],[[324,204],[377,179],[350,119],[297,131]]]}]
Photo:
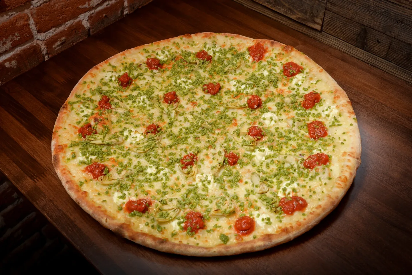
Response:
[{"label": "dark brown stained wood tabletop under the pizza", "polygon": [[[286,244],[238,256],[165,254],[84,212],[54,172],[58,111],[94,65],[125,49],[197,32],[293,45],[346,91],[362,164],[338,207]],[[103,274],[406,274],[412,268],[412,85],[231,0],[155,0],[0,87],[0,169]],[[410,274],[410,273],[409,273]]]}]

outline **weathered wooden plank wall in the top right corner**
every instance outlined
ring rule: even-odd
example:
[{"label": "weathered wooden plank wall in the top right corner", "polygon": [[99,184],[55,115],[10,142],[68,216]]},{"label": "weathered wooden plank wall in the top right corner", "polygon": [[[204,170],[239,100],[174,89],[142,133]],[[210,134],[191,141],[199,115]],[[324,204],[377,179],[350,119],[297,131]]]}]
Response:
[{"label": "weathered wooden plank wall in the top right corner", "polygon": [[253,1],[412,72],[412,0]]}]

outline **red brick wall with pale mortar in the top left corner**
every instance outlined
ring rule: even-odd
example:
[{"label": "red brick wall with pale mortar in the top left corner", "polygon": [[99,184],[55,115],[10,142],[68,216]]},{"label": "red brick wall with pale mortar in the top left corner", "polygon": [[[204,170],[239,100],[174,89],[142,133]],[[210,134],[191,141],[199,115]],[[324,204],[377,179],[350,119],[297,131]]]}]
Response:
[{"label": "red brick wall with pale mortar in the top left corner", "polygon": [[0,85],[152,0],[0,0]]}]

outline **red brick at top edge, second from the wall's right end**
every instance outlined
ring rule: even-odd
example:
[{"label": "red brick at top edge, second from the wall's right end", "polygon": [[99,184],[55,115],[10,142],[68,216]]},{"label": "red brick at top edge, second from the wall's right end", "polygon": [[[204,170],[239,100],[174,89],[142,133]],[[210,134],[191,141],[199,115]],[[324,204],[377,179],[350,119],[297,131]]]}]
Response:
[{"label": "red brick at top edge, second from the wall's right end", "polygon": [[89,15],[90,34],[97,33],[102,28],[105,28],[122,18],[123,16],[123,0],[117,0],[110,5],[100,9]]}]

